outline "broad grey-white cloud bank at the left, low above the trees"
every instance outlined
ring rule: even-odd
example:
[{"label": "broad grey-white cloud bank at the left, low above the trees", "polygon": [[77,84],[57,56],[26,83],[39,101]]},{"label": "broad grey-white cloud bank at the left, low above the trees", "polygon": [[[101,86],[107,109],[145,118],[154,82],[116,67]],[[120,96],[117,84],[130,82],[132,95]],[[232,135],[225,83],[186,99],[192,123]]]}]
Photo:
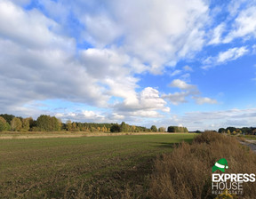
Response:
[{"label": "broad grey-white cloud bank at the left, low above the trees", "polygon": [[[106,104],[104,88],[67,52],[24,50],[4,40],[0,44],[0,82],[5,85],[0,88],[0,96],[5,106],[45,99]],[[12,91],[10,96],[4,94],[8,91]]]}]

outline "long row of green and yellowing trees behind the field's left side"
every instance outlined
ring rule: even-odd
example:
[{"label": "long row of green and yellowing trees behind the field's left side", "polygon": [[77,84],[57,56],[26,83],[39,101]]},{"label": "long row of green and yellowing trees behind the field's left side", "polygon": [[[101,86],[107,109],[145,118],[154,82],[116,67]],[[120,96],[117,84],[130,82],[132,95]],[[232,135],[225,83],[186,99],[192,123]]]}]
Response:
[{"label": "long row of green and yellowing trees behind the field's left side", "polygon": [[[32,117],[22,118],[14,115],[0,115],[0,131],[102,131],[102,132],[165,132],[165,127],[152,125],[149,129],[128,123],[79,123],[60,119],[50,115],[40,115],[36,120]],[[186,127],[169,126],[168,132],[188,132]]]}]

